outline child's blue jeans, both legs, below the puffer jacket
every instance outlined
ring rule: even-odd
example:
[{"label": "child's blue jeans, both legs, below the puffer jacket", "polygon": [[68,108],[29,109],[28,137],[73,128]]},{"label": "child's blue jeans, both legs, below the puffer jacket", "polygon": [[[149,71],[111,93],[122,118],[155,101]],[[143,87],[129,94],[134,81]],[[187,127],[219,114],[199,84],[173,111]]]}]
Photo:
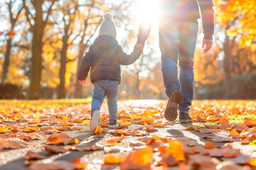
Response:
[{"label": "child's blue jeans, both legs, below the puffer jacket", "polygon": [[117,120],[117,96],[119,90],[119,81],[100,79],[95,81],[92,95],[91,115],[94,111],[100,111],[102,102],[107,96],[107,106],[110,115],[110,124]]}]

